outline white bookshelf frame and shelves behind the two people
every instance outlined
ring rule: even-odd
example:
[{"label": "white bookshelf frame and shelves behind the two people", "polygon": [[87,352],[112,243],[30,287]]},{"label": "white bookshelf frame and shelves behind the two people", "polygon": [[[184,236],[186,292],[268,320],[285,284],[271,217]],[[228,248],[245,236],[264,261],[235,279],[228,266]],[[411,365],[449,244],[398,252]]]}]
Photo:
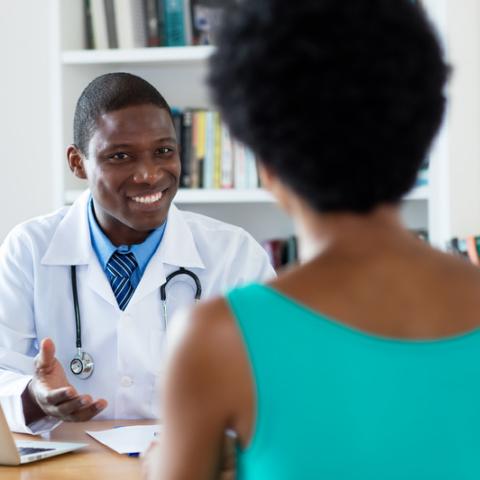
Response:
[{"label": "white bookshelf frame and shelves behind the two people", "polygon": [[[150,47],[86,50],[83,1],[49,0],[51,20],[52,80],[59,92],[54,104],[54,185],[57,205],[72,203],[86,185],[73,177],[65,158],[72,142],[75,103],[83,88],[98,75],[127,71],[151,82],[172,107],[208,108],[211,102],[204,85],[206,60],[211,46]],[[411,228],[430,231],[430,187],[415,188],[405,198],[402,216]],[[262,189],[181,189],[175,203],[185,208],[244,227],[259,241],[285,237],[293,225]],[[252,207],[255,215],[252,215]]]}]

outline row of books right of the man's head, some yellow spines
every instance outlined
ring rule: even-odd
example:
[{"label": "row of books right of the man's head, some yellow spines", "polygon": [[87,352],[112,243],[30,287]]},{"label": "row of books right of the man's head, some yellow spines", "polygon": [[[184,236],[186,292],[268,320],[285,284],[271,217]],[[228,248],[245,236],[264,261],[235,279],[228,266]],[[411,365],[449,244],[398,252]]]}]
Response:
[{"label": "row of books right of the man's head, some yellow spines", "polygon": [[213,110],[173,109],[181,146],[182,188],[259,187],[255,155],[234,140]]}]

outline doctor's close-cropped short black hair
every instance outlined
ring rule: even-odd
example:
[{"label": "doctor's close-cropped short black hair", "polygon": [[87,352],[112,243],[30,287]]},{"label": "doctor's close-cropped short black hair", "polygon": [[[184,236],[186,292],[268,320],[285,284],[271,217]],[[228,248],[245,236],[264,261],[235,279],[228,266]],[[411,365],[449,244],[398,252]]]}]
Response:
[{"label": "doctor's close-cropped short black hair", "polygon": [[77,101],[73,119],[75,145],[86,155],[100,115],[149,103],[167,110],[172,117],[167,101],[143,78],[125,72],[107,73],[95,78]]}]

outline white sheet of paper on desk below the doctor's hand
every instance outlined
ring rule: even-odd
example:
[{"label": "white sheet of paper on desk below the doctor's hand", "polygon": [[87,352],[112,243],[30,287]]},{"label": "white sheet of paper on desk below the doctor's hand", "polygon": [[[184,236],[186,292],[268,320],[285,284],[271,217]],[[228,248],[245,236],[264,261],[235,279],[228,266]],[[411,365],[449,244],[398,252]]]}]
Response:
[{"label": "white sheet of paper on desk below the doctor's hand", "polygon": [[133,425],[85,433],[118,453],[142,453],[161,431],[159,425]]}]

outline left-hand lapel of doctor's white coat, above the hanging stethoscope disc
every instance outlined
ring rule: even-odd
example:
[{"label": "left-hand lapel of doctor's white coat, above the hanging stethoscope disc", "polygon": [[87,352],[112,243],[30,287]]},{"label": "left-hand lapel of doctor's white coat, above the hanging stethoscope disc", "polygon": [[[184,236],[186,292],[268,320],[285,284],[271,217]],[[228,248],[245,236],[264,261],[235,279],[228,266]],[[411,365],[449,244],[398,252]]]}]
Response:
[{"label": "left-hand lapel of doctor's white coat, above the hanging stethoscope disc", "polygon": [[[67,210],[42,258],[42,265],[77,265],[77,278],[82,276],[82,280],[95,293],[112,305],[117,305],[92,247],[87,215],[89,198],[90,191],[86,190]],[[83,266],[86,266],[86,274],[83,273]]]}]

